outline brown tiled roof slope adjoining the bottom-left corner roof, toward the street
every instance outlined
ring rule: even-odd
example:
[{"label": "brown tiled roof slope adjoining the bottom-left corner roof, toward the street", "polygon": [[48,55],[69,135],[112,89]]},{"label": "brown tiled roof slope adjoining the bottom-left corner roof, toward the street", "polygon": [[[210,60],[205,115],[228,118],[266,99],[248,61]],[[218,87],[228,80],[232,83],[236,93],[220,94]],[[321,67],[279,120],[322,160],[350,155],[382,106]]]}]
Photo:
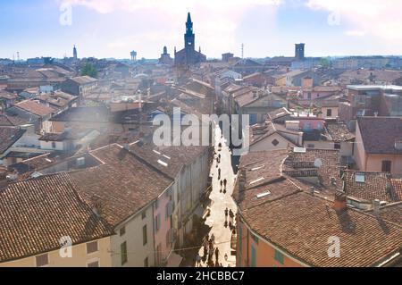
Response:
[{"label": "brown tiled roof slope adjoining the bottom-left corner roof, toward the street", "polygon": [[172,184],[172,179],[113,144],[90,153],[104,164],[70,172],[80,195],[114,226],[136,214]]}]

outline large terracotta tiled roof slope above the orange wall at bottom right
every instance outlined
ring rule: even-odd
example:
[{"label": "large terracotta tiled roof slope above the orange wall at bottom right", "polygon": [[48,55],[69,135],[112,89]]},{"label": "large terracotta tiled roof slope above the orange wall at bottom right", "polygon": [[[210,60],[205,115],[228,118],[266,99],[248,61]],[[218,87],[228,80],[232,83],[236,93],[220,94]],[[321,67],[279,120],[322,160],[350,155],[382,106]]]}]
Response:
[{"label": "large terracotta tiled roof slope above the orange wall at bottom right", "polygon": [[[299,192],[241,214],[259,235],[313,266],[373,266],[402,247],[398,225],[331,207],[331,202]],[[339,258],[328,256],[333,236],[340,240]]]}]

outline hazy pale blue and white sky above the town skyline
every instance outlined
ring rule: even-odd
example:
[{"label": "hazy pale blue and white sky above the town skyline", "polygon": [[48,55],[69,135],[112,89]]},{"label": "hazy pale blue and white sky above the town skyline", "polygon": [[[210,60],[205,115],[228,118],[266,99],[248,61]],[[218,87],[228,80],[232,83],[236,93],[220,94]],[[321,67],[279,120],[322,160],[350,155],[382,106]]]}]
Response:
[{"label": "hazy pale blue and white sky above the town skyline", "polygon": [[[400,0],[0,0],[0,58],[157,58],[184,46],[191,13],[207,57],[402,54]],[[16,55],[15,55],[16,56]]]}]

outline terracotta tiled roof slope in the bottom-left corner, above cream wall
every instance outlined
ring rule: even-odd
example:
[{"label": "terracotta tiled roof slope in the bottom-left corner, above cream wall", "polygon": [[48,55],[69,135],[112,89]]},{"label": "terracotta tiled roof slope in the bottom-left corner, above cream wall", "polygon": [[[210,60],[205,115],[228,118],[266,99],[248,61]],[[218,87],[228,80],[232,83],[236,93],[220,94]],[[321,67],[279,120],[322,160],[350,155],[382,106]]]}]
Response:
[{"label": "terracotta tiled roof slope in the bottom-left corner, above cream wall", "polygon": [[68,174],[12,183],[0,190],[0,261],[38,255],[113,234],[81,200]]}]

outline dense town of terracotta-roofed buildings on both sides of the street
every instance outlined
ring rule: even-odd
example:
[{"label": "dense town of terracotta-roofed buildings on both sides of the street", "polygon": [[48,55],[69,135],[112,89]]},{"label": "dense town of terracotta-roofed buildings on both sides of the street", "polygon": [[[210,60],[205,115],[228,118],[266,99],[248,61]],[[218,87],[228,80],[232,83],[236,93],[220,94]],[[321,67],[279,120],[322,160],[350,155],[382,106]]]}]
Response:
[{"label": "dense town of terracotta-roofed buildings on both sides of the street", "polygon": [[156,146],[153,119],[178,112],[249,116],[249,152],[233,157],[238,266],[400,265],[400,58],[324,66],[297,44],[294,57],[207,60],[189,13],[184,39],[155,62],[75,46],[63,61],[0,60],[0,266],[188,258],[213,144]]}]

